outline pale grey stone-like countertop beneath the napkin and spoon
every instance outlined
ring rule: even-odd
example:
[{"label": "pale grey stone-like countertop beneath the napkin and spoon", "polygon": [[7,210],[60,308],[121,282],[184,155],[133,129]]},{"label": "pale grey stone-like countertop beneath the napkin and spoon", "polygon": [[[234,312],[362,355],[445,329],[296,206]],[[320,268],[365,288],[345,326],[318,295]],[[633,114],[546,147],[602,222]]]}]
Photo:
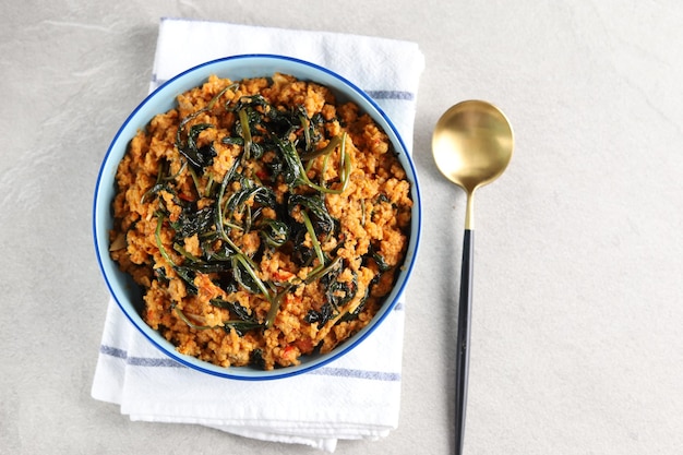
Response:
[{"label": "pale grey stone-like countertop beneath the napkin and spoon", "polygon": [[91,234],[101,158],[146,95],[163,16],[411,40],[424,237],[398,429],[336,453],[448,454],[464,194],[431,131],[484,98],[512,119],[477,195],[467,454],[683,451],[683,4],[349,0],[0,7],[0,453],[300,454],[131,422],[91,385],[108,299]]}]

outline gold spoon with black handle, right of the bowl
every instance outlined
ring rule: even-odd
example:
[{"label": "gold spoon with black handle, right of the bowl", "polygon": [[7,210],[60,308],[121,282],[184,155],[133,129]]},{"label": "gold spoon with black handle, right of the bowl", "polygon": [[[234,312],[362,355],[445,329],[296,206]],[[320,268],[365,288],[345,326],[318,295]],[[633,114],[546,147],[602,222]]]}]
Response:
[{"label": "gold spoon with black handle, right of the bowl", "polygon": [[513,148],[514,134],[505,115],[495,106],[479,100],[458,103],[446,110],[436,122],[432,136],[432,152],[439,170],[467,193],[455,369],[457,455],[463,453],[467,406],[475,250],[474,196],[479,187],[503,173]]}]

